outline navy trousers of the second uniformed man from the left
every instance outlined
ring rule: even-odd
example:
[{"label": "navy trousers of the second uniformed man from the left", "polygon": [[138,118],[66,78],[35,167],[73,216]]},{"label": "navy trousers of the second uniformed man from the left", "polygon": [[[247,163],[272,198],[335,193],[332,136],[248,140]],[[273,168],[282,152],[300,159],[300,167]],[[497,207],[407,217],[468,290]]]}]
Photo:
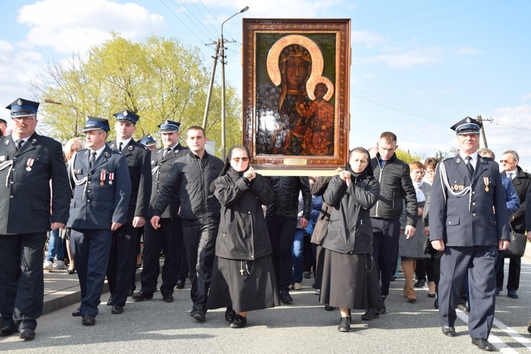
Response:
[{"label": "navy trousers of the second uniformed man from the left", "polygon": [[81,287],[81,316],[98,314],[112,239],[113,232],[110,228],[72,229],[70,242]]}]

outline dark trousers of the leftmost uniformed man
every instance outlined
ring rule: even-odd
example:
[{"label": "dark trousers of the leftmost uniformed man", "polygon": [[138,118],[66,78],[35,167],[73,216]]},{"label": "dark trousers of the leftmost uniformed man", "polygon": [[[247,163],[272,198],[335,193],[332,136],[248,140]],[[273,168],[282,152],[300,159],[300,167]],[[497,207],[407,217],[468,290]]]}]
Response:
[{"label": "dark trousers of the leftmost uniformed man", "polygon": [[0,313],[2,326],[35,329],[42,314],[42,254],[46,232],[0,235]]}]

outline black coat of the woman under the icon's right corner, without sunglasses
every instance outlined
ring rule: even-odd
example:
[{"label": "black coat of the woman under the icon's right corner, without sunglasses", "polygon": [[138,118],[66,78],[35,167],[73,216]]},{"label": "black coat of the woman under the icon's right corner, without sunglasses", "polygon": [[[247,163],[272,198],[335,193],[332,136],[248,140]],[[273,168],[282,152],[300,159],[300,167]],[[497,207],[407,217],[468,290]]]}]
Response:
[{"label": "black coat of the woman under the icon's right corner, without sunglasses", "polygon": [[379,183],[372,176],[347,183],[334,176],[323,195],[333,209],[322,246],[338,253],[372,253],[370,208],[376,204]]}]

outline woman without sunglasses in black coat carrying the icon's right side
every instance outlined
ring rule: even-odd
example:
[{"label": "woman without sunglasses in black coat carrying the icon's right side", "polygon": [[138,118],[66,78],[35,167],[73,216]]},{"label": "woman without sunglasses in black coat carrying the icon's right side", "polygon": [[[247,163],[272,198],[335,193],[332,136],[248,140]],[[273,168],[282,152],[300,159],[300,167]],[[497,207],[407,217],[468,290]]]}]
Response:
[{"label": "woman without sunglasses in black coat carrying the icon's right side", "polygon": [[323,200],[332,207],[326,236],[321,303],[339,307],[338,331],[350,330],[350,309],[368,309],[362,319],[375,319],[382,307],[375,260],[372,257],[370,208],[379,196],[369,152],[350,152],[345,171],[334,176]]}]

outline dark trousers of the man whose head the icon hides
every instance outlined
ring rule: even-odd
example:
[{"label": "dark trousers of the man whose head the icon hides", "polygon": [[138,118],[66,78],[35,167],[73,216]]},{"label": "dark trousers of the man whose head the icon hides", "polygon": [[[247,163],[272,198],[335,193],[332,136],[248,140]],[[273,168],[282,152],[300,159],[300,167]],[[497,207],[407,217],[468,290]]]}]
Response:
[{"label": "dark trousers of the man whose head the icon hides", "polygon": [[287,290],[293,278],[292,246],[297,230],[297,217],[266,216],[273,253],[273,266],[278,290]]}]

